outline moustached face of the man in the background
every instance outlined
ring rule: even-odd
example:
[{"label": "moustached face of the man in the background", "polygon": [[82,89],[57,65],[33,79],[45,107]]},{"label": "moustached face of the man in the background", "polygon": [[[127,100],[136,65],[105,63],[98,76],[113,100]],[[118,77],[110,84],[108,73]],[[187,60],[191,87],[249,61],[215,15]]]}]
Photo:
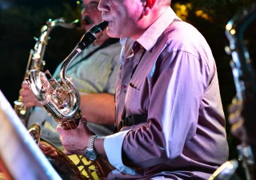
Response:
[{"label": "moustached face of the man in the background", "polygon": [[82,2],[82,20],[85,20],[86,30],[92,25],[102,22],[101,11],[98,10],[99,0],[83,0]]}]

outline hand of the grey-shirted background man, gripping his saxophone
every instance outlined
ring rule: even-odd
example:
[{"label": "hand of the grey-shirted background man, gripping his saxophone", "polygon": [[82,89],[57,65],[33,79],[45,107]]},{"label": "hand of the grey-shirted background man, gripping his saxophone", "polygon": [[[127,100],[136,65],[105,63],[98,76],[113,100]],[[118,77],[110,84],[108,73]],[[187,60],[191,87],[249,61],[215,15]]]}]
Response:
[{"label": "hand of the grey-shirted background man, gripping his saxophone", "polygon": [[19,95],[22,96],[22,102],[27,108],[39,106],[42,104],[38,102],[38,99],[34,96],[34,92],[30,89],[30,86],[26,84],[26,81],[22,83],[22,88],[19,91]]}]

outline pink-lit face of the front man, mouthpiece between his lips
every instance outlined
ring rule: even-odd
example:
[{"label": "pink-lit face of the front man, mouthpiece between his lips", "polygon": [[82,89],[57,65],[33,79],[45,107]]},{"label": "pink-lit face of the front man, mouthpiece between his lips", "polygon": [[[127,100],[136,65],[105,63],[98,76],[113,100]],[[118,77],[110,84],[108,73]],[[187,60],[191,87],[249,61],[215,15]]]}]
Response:
[{"label": "pink-lit face of the front man, mouthpiece between his lips", "polygon": [[142,29],[142,0],[101,0],[102,19],[110,37],[138,37]]}]

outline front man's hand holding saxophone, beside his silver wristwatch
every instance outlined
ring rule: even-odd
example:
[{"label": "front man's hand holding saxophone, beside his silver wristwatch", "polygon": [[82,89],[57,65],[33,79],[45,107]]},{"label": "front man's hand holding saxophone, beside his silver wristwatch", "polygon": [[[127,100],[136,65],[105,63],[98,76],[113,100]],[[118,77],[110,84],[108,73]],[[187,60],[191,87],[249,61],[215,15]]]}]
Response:
[{"label": "front man's hand holding saxophone, beside his silver wristwatch", "polygon": [[86,119],[80,119],[78,127],[75,129],[65,130],[62,125],[57,127],[58,134],[62,145],[65,147],[66,155],[84,155],[86,146],[90,136],[92,135],[90,129],[86,127]]}]

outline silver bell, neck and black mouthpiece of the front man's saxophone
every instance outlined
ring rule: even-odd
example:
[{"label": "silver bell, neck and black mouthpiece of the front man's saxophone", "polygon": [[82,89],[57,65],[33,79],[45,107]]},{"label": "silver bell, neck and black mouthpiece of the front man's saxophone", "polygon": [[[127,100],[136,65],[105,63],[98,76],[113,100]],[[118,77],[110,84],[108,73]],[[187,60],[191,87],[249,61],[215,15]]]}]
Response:
[{"label": "silver bell, neck and black mouthpiece of the front man's saxophone", "polygon": [[[71,82],[71,79],[66,76],[67,67],[83,49],[86,49],[88,45],[91,45],[102,36],[102,31],[106,29],[107,25],[108,22],[103,21],[98,25],[94,25],[83,35],[78,45],[63,61],[59,72],[59,82],[51,76],[49,71],[41,72],[37,69],[31,70],[26,78],[38,101],[64,127],[67,125],[67,128],[75,128],[78,124],[78,119],[82,117],[79,110],[79,92]],[[77,121],[73,122],[71,119],[77,119]]]}]

